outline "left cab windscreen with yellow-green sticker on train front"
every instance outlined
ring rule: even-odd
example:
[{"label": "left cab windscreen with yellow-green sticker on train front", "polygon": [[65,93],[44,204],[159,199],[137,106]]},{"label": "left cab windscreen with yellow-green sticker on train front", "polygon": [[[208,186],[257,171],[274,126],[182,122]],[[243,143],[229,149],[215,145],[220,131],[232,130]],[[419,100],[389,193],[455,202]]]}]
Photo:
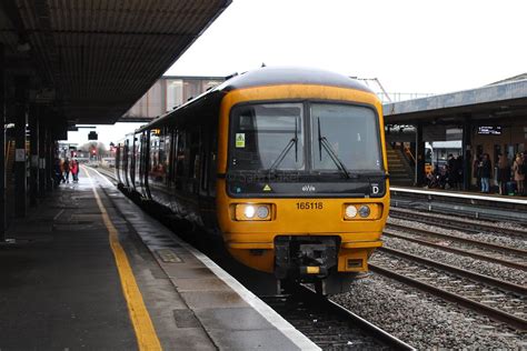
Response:
[{"label": "left cab windscreen with yellow-green sticker on train front", "polygon": [[229,160],[232,170],[304,170],[304,106],[235,108]]}]

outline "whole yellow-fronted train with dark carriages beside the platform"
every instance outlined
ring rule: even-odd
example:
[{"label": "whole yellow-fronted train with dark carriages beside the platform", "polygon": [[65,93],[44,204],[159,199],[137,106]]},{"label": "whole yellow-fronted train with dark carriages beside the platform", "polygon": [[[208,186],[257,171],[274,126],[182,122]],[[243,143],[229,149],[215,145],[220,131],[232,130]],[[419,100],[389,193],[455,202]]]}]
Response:
[{"label": "whole yellow-fronted train with dark carriages beside the platform", "polygon": [[133,150],[150,157],[141,157],[130,182],[219,232],[243,264],[336,293],[367,271],[381,245],[389,207],[384,138],[381,104],[359,82],[261,68],[139,130],[133,140],[147,148],[133,141]]}]

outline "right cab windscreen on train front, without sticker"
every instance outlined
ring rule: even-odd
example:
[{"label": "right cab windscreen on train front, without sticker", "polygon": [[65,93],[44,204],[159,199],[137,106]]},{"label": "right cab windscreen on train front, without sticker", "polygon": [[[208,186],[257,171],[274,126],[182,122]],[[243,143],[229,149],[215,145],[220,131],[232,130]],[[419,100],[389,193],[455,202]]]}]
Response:
[{"label": "right cab windscreen on train front, without sticker", "polygon": [[381,170],[380,138],[372,109],[349,104],[312,103],[312,164],[334,171]]}]

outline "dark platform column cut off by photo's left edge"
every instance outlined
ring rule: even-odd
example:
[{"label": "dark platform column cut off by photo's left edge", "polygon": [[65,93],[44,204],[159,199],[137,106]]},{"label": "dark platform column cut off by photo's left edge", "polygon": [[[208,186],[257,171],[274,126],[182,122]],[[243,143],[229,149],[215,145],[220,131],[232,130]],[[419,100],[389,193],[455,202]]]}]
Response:
[{"label": "dark platform column cut off by photo's left edge", "polygon": [[6,241],[6,62],[0,42],[0,242]]}]

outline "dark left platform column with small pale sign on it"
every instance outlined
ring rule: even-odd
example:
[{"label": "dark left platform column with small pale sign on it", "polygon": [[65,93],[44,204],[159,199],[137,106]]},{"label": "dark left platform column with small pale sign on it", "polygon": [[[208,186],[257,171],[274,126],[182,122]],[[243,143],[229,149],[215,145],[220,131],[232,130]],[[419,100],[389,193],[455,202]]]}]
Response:
[{"label": "dark left platform column with small pale sign on it", "polygon": [[26,124],[28,123],[28,77],[14,79],[14,215],[26,217],[27,157]]}]

